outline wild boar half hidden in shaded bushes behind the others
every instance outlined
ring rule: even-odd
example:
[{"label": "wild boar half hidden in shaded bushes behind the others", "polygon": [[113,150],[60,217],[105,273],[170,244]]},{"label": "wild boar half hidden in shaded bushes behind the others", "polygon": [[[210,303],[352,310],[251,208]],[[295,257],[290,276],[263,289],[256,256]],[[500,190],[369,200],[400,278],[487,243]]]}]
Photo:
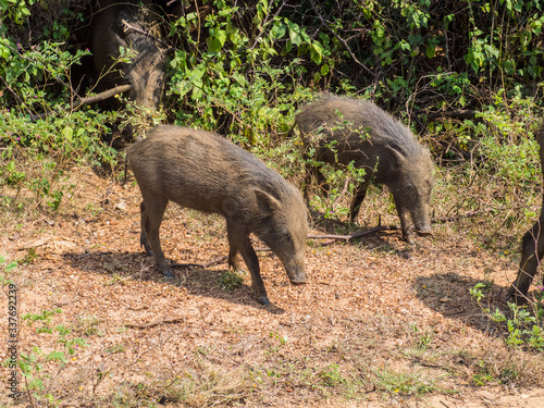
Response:
[{"label": "wild boar half hidden in shaded bushes behind the others", "polygon": [[[158,108],[164,88],[166,52],[158,38],[160,30],[151,2],[94,0],[91,3],[90,50],[103,91],[118,85],[132,85],[131,99],[147,108]],[[120,47],[135,53],[120,62]],[[110,108],[119,108],[115,101]]]}]

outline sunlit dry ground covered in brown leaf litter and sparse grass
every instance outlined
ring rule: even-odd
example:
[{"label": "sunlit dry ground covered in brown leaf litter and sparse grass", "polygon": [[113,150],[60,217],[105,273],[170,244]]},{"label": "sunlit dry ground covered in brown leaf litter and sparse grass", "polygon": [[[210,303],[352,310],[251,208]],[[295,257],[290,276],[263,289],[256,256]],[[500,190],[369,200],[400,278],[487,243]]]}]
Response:
[{"label": "sunlit dry ground covered in brown leaf litter and sparse grass", "polygon": [[[260,252],[272,301],[262,307],[248,274],[231,290],[219,283],[226,263],[176,268],[175,279],[163,279],[139,248],[136,186],[88,169],[75,169],[72,182],[73,199],[57,215],[2,213],[2,255],[24,261],[10,274],[18,288],[20,353],[62,348],[55,331],[38,333],[42,322],[22,319],[57,308],[62,312],[49,326],[63,324],[70,338],[87,343],[74,346],[65,363],[44,359],[35,375],[44,381],[35,390],[42,399],[25,394],[26,405],[52,405],[46,394],[82,407],[544,403],[542,354],[508,347],[504,330],[469,294],[490,282],[489,307],[506,311],[517,271],[517,255],[474,239],[486,228],[478,214],[436,223],[435,234],[413,247],[399,231],[325,246],[309,240],[306,286],[292,286],[280,261]],[[441,188],[436,217],[450,217]],[[373,189],[367,200],[362,226],[380,215],[395,222],[385,191]],[[354,231],[334,220],[313,226],[312,234]],[[170,206],[161,236],[180,263],[205,264],[227,252],[219,217]],[[7,310],[7,297],[0,307]],[[5,324],[0,332],[5,338]]]}]

